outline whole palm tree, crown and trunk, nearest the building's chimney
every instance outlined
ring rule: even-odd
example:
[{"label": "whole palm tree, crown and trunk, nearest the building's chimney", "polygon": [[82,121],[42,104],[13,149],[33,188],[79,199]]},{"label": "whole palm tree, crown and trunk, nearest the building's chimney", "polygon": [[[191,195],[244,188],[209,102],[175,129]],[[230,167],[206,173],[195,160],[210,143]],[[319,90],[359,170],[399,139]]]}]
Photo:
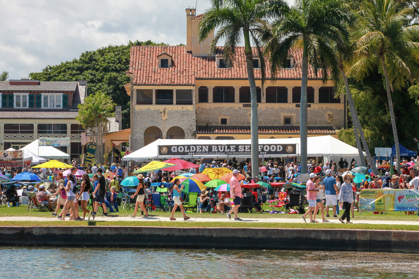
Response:
[{"label": "whole palm tree, crown and trunk, nearest the building's chimney", "polygon": [[212,7],[205,11],[199,23],[200,42],[204,41],[212,30],[219,28],[211,42],[209,53],[213,53],[218,42],[225,39],[223,56],[227,65],[233,64],[236,46],[241,43],[241,35],[243,35],[251,96],[252,173],[257,173],[259,168],[259,135],[251,40],[259,54],[263,86],[265,80],[265,59],[262,44],[259,40],[261,26],[266,24],[268,18],[277,17],[287,7],[287,3],[284,0],[212,0]]}]

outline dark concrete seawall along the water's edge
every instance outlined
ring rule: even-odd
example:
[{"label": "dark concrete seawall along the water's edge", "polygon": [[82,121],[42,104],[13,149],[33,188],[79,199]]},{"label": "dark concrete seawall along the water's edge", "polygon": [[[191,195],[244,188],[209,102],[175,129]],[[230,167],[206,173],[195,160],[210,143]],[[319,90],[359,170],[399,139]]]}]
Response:
[{"label": "dark concrete seawall along the water's edge", "polygon": [[419,253],[419,231],[134,226],[0,227],[1,246],[171,247]]}]

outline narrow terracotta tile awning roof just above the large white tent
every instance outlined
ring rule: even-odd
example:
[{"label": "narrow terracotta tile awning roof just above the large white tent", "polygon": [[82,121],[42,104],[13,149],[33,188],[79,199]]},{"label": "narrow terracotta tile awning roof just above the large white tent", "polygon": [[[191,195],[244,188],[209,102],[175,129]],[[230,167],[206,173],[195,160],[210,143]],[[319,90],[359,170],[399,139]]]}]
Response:
[{"label": "narrow terracotta tile awning roof just above the large white tent", "polygon": [[[250,134],[250,126],[197,126],[197,134]],[[299,126],[259,126],[259,134],[300,134]],[[335,135],[332,126],[308,126],[310,135]]]}]

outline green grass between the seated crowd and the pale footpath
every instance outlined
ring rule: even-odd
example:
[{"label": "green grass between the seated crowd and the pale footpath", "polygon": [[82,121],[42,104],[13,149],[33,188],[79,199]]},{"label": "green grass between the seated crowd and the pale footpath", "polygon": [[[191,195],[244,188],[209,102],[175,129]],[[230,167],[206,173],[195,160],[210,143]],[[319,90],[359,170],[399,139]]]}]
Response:
[{"label": "green grass between the seated crowd and the pale footpath", "polygon": [[[269,210],[270,207],[264,206],[263,209]],[[119,208],[119,212],[110,213],[110,215],[119,215],[119,216],[129,216],[134,213],[134,210],[123,210]],[[333,211],[330,210],[329,214],[332,214]],[[342,214],[342,210],[340,215]],[[98,215],[101,215],[99,213]],[[170,212],[161,212],[155,211],[150,213],[150,215],[156,215],[160,217],[169,217],[171,215]],[[203,213],[199,214],[196,212],[187,213],[187,215],[191,218],[226,218],[225,215],[221,214],[210,214],[210,213]],[[355,210],[355,220],[388,220],[388,221],[419,221],[419,216],[416,215],[405,215],[404,212],[387,212],[387,214],[373,214],[372,212],[362,212],[361,214]],[[51,217],[53,218],[49,212],[38,212],[35,210],[34,212],[26,211],[26,205],[21,205],[19,207],[7,207],[5,205],[1,205],[0,207],[0,217],[4,216],[34,216],[34,217]],[[140,212],[137,213],[137,216],[140,216]],[[181,216],[180,212],[175,213],[175,217]],[[239,213],[239,216],[242,218],[297,218],[300,219],[300,214],[270,214],[270,213]],[[82,216],[83,217],[83,216]],[[317,217],[318,220],[321,219],[321,215]],[[333,219],[332,217],[330,219]]]}]

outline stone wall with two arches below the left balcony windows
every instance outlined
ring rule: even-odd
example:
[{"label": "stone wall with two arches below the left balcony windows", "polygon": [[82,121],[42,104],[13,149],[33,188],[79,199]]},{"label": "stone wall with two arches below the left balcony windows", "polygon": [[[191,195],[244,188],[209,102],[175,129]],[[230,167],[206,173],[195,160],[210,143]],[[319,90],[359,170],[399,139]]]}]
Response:
[{"label": "stone wall with two arches below the left balcony windows", "polygon": [[144,131],[150,126],[160,128],[163,138],[169,128],[178,126],[184,130],[185,138],[194,138],[196,130],[193,105],[134,105],[131,126],[132,150],[144,146]]}]

